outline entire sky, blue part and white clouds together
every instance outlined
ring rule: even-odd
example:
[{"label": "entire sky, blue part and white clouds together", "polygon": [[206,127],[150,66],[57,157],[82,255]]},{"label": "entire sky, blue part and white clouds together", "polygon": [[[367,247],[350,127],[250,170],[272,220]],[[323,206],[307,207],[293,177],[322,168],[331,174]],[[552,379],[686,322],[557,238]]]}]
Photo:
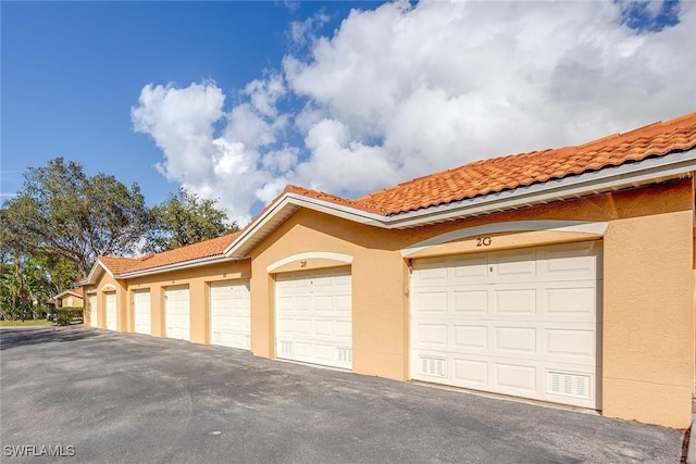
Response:
[{"label": "entire sky, blue part and white clouds together", "polygon": [[[696,110],[691,2],[2,2],[2,198],[63,156],[244,223]],[[352,13],[351,13],[352,11]]]}]

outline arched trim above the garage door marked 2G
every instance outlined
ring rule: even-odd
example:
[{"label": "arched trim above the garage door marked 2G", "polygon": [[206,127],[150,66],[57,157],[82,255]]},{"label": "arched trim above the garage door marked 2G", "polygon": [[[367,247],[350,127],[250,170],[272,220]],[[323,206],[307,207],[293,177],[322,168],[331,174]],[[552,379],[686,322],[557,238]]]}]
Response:
[{"label": "arched trim above the garage door marked 2G", "polygon": [[[510,233],[547,233],[547,237],[549,236],[548,233],[550,233],[554,235],[568,236],[568,238],[572,240],[600,239],[604,237],[606,229],[607,223],[583,221],[511,221],[506,223],[485,224],[482,226],[462,228],[431,237],[427,240],[423,240],[408,248],[405,248],[403,250],[401,250],[401,255],[403,258],[417,258],[425,250],[428,250],[432,247],[438,244],[465,239],[489,239],[490,236]],[[532,242],[529,244],[540,244],[534,243],[534,239],[532,239],[531,241]],[[481,243],[474,243],[473,246],[487,247],[489,244],[489,241],[484,241]],[[517,247],[522,244],[523,243],[515,243]],[[458,251],[463,252],[464,250]]]}]

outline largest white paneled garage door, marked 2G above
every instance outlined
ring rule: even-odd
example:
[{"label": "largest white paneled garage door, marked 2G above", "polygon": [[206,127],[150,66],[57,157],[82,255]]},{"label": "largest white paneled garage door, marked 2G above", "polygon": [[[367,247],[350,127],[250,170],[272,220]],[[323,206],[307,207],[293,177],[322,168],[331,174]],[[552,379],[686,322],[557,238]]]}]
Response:
[{"label": "largest white paneled garage door, marked 2G above", "polygon": [[413,262],[411,378],[600,409],[597,242]]}]

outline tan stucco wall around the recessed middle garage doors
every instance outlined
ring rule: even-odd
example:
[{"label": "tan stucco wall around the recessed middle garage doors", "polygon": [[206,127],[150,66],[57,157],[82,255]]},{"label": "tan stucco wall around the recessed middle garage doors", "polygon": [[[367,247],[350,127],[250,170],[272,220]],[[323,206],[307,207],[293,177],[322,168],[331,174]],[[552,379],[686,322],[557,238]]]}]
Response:
[{"label": "tan stucco wall around the recessed middle garage doors", "polygon": [[127,331],[135,331],[134,291],[150,290],[150,309],[152,317],[152,335],[166,336],[164,319],[164,290],[167,287],[187,285],[190,299],[191,341],[210,343],[210,284],[225,280],[248,280],[251,266],[249,260],[226,262],[214,265],[191,267],[149,276],[136,277],[126,281],[128,288]]}]

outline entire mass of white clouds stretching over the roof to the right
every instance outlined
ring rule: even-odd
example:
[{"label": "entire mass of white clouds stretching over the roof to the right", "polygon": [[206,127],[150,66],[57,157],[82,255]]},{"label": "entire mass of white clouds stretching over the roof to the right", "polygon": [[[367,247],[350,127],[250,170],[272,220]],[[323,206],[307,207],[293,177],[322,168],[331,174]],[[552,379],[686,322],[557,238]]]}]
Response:
[{"label": "entire mass of white clouds stretching over the roof to the right", "polygon": [[[638,7],[649,21],[663,12]],[[318,15],[289,26],[283,73],[249,83],[235,106],[211,83],[150,85],[134,126],[163,150],[167,178],[240,218],[285,183],[358,196],[694,111],[696,7],[682,2],[679,24],[659,30],[632,25],[632,8],[397,1],[351,12],[326,37],[313,35]],[[279,110],[285,99],[297,109]]]}]

